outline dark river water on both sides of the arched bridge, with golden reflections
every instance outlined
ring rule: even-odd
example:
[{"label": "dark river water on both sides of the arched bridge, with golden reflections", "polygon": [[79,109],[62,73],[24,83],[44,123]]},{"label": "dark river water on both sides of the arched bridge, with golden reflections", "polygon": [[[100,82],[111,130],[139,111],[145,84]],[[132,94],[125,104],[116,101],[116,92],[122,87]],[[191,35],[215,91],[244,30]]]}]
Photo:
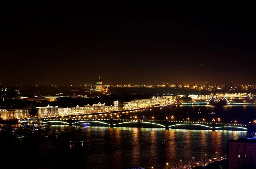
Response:
[{"label": "dark river water on both sides of the arched bridge, with golden reflections", "polygon": [[[201,113],[198,113],[200,108]],[[208,109],[207,109],[208,108]],[[253,118],[254,107],[203,107],[183,106],[172,109],[136,112],[137,115],[154,115],[158,118],[174,115],[183,118],[188,115],[195,120],[214,110],[221,120],[237,119],[248,121]],[[188,113],[186,113],[188,112]],[[239,113],[240,112],[240,113]],[[146,113],[146,114],[145,114]],[[120,113],[119,115],[121,115]],[[124,117],[126,113],[124,113]],[[240,115],[239,115],[240,114]],[[247,117],[248,115],[248,117]],[[241,117],[240,117],[241,116]],[[204,117],[207,118],[207,117]],[[209,116],[209,119],[211,117]],[[248,119],[247,119],[248,118]],[[27,169],[79,168],[79,169],[122,169],[128,166],[145,166],[163,169],[165,163],[171,166],[192,157],[201,159],[206,146],[207,157],[226,153],[226,142],[246,137],[244,131],[212,131],[181,129],[147,129],[125,127],[84,127],[73,130],[69,126],[52,126],[45,133],[35,133],[30,138],[11,139],[0,134],[0,159],[2,166],[26,167]],[[67,133],[56,137],[55,130]],[[45,138],[45,135],[53,135]],[[70,145],[70,141],[87,140],[83,145]],[[162,143],[162,140],[170,142]]]}]

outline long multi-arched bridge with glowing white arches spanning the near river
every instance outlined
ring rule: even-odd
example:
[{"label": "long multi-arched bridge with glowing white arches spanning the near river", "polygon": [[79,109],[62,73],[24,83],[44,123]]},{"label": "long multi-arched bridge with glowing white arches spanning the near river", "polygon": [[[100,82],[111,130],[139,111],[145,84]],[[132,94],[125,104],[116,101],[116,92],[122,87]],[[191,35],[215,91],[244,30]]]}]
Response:
[{"label": "long multi-arched bridge with glowing white arches spanning the near river", "polygon": [[[30,122],[30,121],[20,121]],[[38,122],[38,121],[36,121]],[[44,119],[42,124],[55,125],[81,125],[88,123],[91,126],[108,126],[108,127],[145,127],[145,128],[166,128],[166,129],[198,129],[198,130],[248,130],[246,124],[236,123],[215,123],[207,121],[168,121],[168,120],[129,120],[129,119],[91,119],[91,118],[58,118]]]}]

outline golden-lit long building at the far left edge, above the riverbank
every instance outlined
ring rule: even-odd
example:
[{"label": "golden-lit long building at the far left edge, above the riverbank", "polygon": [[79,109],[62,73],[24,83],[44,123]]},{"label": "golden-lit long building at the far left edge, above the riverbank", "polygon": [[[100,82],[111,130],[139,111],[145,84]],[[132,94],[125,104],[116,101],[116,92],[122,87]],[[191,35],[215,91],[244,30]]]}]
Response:
[{"label": "golden-lit long building at the far left edge, above the riverbank", "polygon": [[29,109],[0,109],[0,118],[3,120],[12,118],[28,118]]}]

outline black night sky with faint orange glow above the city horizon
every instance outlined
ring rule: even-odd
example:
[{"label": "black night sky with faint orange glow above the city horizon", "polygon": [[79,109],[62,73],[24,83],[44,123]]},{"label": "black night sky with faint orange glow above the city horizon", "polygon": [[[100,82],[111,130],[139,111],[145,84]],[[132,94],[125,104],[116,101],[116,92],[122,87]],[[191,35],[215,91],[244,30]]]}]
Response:
[{"label": "black night sky with faint orange glow above the city horizon", "polygon": [[250,4],[152,5],[2,4],[0,83],[256,84]]}]

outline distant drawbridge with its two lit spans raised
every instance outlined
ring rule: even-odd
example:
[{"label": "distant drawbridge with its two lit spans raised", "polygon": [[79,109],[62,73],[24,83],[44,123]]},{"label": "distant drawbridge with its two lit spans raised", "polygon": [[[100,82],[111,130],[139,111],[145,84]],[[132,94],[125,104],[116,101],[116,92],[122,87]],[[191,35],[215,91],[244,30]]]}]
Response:
[{"label": "distant drawbridge with its two lit spans raised", "polygon": [[[217,95],[213,94],[210,97],[208,102],[181,103],[181,105],[210,105],[213,101],[214,96],[219,97],[220,95],[219,94],[217,94]],[[234,106],[234,105],[238,105],[238,106],[240,106],[240,105],[245,105],[245,106],[255,105],[256,106],[256,103],[234,103],[234,102],[230,102],[224,94],[221,94],[221,97],[223,97],[225,99],[225,101],[227,102],[227,105],[232,105],[232,106]]]}]

